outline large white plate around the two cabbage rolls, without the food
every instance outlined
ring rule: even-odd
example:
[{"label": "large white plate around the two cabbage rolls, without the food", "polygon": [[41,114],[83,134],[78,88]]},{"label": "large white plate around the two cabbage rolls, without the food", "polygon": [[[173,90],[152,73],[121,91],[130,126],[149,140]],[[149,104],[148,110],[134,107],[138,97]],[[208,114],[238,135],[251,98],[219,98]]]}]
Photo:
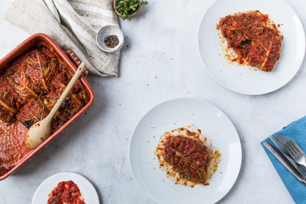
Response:
[{"label": "large white plate around the two cabbage rolls, without the food", "polygon": [[[283,24],[279,28],[284,37],[281,56],[269,73],[231,65],[222,57],[216,24],[221,17],[250,10],[268,14],[276,25]],[[215,80],[232,91],[259,95],[279,89],[297,73],[305,53],[305,33],[299,17],[283,0],[217,0],[200,23],[198,48],[207,71]]]}]

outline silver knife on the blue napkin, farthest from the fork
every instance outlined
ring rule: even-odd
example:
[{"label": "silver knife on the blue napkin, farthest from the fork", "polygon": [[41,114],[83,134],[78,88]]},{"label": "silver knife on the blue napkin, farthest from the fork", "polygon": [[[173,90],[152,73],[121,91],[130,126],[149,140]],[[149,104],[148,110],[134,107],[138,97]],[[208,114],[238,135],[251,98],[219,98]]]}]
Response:
[{"label": "silver knife on the blue napkin, farthest from the fork", "polygon": [[278,149],[276,149],[273,145],[267,142],[264,142],[263,146],[266,147],[274,155],[274,157],[277,158],[277,160],[281,162],[282,165],[284,165],[285,168],[288,169],[288,171],[291,172],[294,177],[297,178],[297,180],[306,185],[306,179],[304,178],[304,176],[302,176],[302,174],[300,174],[300,172],[298,172],[297,169],[294,168],[290,161],[288,161],[285,156],[280,151],[278,151]]}]

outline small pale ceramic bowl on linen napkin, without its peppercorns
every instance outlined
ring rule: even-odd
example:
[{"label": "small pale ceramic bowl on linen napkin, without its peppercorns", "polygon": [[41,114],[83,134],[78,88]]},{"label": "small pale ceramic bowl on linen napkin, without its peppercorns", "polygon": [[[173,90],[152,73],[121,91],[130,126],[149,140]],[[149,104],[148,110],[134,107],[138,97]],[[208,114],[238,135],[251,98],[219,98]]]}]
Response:
[{"label": "small pale ceramic bowl on linen napkin, without its peppercorns", "polygon": [[[109,35],[117,35],[119,39],[118,45],[114,48],[107,47],[104,43],[104,39]],[[104,52],[114,52],[116,50],[120,50],[120,48],[123,46],[124,36],[120,28],[118,28],[117,26],[106,25],[106,26],[103,26],[97,33],[96,42],[99,48],[103,50]]]}]

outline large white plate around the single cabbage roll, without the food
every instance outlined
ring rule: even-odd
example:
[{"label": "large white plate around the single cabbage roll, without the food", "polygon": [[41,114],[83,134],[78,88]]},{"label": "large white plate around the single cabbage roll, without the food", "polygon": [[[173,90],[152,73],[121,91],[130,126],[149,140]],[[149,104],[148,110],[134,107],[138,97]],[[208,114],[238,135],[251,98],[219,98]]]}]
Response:
[{"label": "large white plate around the single cabbage roll, without the food", "polygon": [[[209,185],[175,185],[159,169],[154,154],[159,138],[176,128],[195,125],[222,154]],[[142,117],[129,147],[132,174],[142,191],[156,203],[215,203],[235,183],[241,166],[241,143],[230,119],[218,108],[198,99],[163,102]]]}]

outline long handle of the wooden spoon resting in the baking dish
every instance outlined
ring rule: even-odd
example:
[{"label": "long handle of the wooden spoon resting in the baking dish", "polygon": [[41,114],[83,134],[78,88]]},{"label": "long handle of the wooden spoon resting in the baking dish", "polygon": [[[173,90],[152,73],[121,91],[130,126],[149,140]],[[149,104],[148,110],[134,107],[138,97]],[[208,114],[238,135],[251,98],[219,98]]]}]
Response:
[{"label": "long handle of the wooden spoon resting in the baking dish", "polygon": [[64,92],[62,93],[61,97],[58,99],[52,110],[50,111],[49,115],[47,117],[53,118],[55,113],[58,111],[58,109],[61,107],[62,103],[64,102],[65,98],[68,96],[71,89],[74,87],[74,84],[81,76],[83,70],[85,69],[85,62],[82,62],[80,66],[77,68],[75,74],[73,75],[72,79],[68,83],[67,87],[65,88]]}]

